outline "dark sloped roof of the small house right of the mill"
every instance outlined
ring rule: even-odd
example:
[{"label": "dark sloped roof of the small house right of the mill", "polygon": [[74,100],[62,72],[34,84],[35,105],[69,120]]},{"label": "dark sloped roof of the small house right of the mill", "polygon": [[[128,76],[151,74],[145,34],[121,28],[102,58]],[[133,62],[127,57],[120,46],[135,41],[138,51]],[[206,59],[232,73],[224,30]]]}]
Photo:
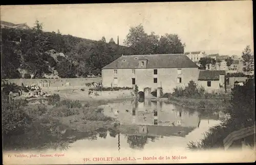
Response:
[{"label": "dark sloped roof of the small house right of the mill", "polygon": [[225,70],[201,70],[198,80],[219,80],[220,75],[225,75]]}]

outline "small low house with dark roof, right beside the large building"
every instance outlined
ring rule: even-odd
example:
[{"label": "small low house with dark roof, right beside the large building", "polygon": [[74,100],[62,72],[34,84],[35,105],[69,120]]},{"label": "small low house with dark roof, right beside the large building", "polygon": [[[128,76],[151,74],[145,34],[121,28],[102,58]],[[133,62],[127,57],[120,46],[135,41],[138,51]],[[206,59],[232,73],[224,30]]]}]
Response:
[{"label": "small low house with dark roof, right beside the large building", "polygon": [[208,92],[225,90],[225,70],[201,70],[198,85]]}]

